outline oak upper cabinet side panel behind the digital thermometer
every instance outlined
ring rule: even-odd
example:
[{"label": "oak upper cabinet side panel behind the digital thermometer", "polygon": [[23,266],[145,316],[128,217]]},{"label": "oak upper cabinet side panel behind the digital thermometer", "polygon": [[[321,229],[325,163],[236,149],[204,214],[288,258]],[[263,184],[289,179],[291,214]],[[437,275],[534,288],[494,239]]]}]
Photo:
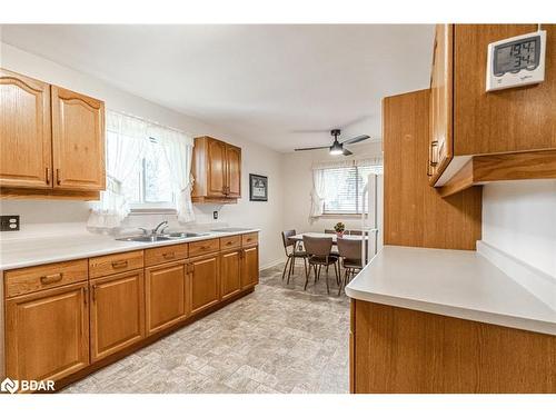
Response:
[{"label": "oak upper cabinet side panel behind the digital thermometer", "polygon": [[454,155],[556,148],[556,24],[546,30],[545,81],[485,91],[490,42],[530,33],[537,24],[456,24]]}]

